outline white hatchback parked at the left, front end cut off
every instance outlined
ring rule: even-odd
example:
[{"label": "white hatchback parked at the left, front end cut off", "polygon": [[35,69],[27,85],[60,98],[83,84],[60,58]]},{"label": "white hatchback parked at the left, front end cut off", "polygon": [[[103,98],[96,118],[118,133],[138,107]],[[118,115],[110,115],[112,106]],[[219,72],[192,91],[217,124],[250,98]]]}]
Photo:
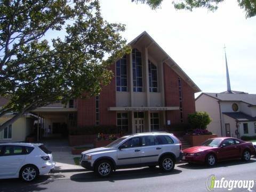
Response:
[{"label": "white hatchback parked at the left, front end cut off", "polygon": [[0,179],[33,181],[54,166],[51,151],[42,143],[0,143]]}]

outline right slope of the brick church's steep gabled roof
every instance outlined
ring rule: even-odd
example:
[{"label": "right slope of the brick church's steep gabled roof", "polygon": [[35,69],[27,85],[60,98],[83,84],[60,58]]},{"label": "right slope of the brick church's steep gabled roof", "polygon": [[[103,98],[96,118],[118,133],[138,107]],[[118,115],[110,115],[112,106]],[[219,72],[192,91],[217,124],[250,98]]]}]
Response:
[{"label": "right slope of the brick church's steep gabled roof", "polygon": [[155,40],[150,37],[150,35],[144,31],[141,33],[138,37],[134,38],[129,45],[132,47],[136,44],[145,45],[145,47],[148,47],[148,52],[156,54],[156,59],[162,62],[165,62],[167,65],[169,65],[175,73],[177,73],[188,85],[192,87],[195,93],[201,92],[199,87],[189,78],[189,76],[178,66],[178,64],[162,49],[161,46],[159,46]]}]

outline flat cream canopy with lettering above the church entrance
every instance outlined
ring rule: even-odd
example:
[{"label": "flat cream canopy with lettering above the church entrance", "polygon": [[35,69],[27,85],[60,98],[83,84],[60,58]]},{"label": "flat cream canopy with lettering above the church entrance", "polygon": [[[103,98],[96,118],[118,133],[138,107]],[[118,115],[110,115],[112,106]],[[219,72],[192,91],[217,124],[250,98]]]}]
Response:
[{"label": "flat cream canopy with lettering above the church entrance", "polygon": [[165,111],[179,110],[179,107],[109,107],[109,111]]}]

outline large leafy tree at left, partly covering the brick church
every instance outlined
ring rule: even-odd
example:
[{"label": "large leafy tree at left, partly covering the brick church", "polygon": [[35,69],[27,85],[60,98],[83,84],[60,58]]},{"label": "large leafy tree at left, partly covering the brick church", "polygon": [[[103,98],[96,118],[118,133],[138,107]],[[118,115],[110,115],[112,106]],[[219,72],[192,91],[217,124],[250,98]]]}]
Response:
[{"label": "large leafy tree at left, partly covering the brick church", "polygon": [[[65,38],[46,41],[56,31]],[[0,131],[37,107],[99,94],[113,78],[109,65],[130,51],[121,31],[97,0],[0,1],[0,97],[9,99],[0,117],[16,113]]]}]

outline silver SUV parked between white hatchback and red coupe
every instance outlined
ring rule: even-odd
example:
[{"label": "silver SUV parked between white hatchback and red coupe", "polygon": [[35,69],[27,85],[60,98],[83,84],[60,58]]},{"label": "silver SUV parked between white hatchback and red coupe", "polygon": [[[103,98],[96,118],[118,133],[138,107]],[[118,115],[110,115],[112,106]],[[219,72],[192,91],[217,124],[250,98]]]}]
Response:
[{"label": "silver SUV parked between white hatchback and red coupe", "polygon": [[127,135],[106,147],[82,152],[80,163],[99,177],[108,177],[113,170],[127,167],[155,167],[172,171],[182,158],[181,142],[171,133],[152,132]]}]

